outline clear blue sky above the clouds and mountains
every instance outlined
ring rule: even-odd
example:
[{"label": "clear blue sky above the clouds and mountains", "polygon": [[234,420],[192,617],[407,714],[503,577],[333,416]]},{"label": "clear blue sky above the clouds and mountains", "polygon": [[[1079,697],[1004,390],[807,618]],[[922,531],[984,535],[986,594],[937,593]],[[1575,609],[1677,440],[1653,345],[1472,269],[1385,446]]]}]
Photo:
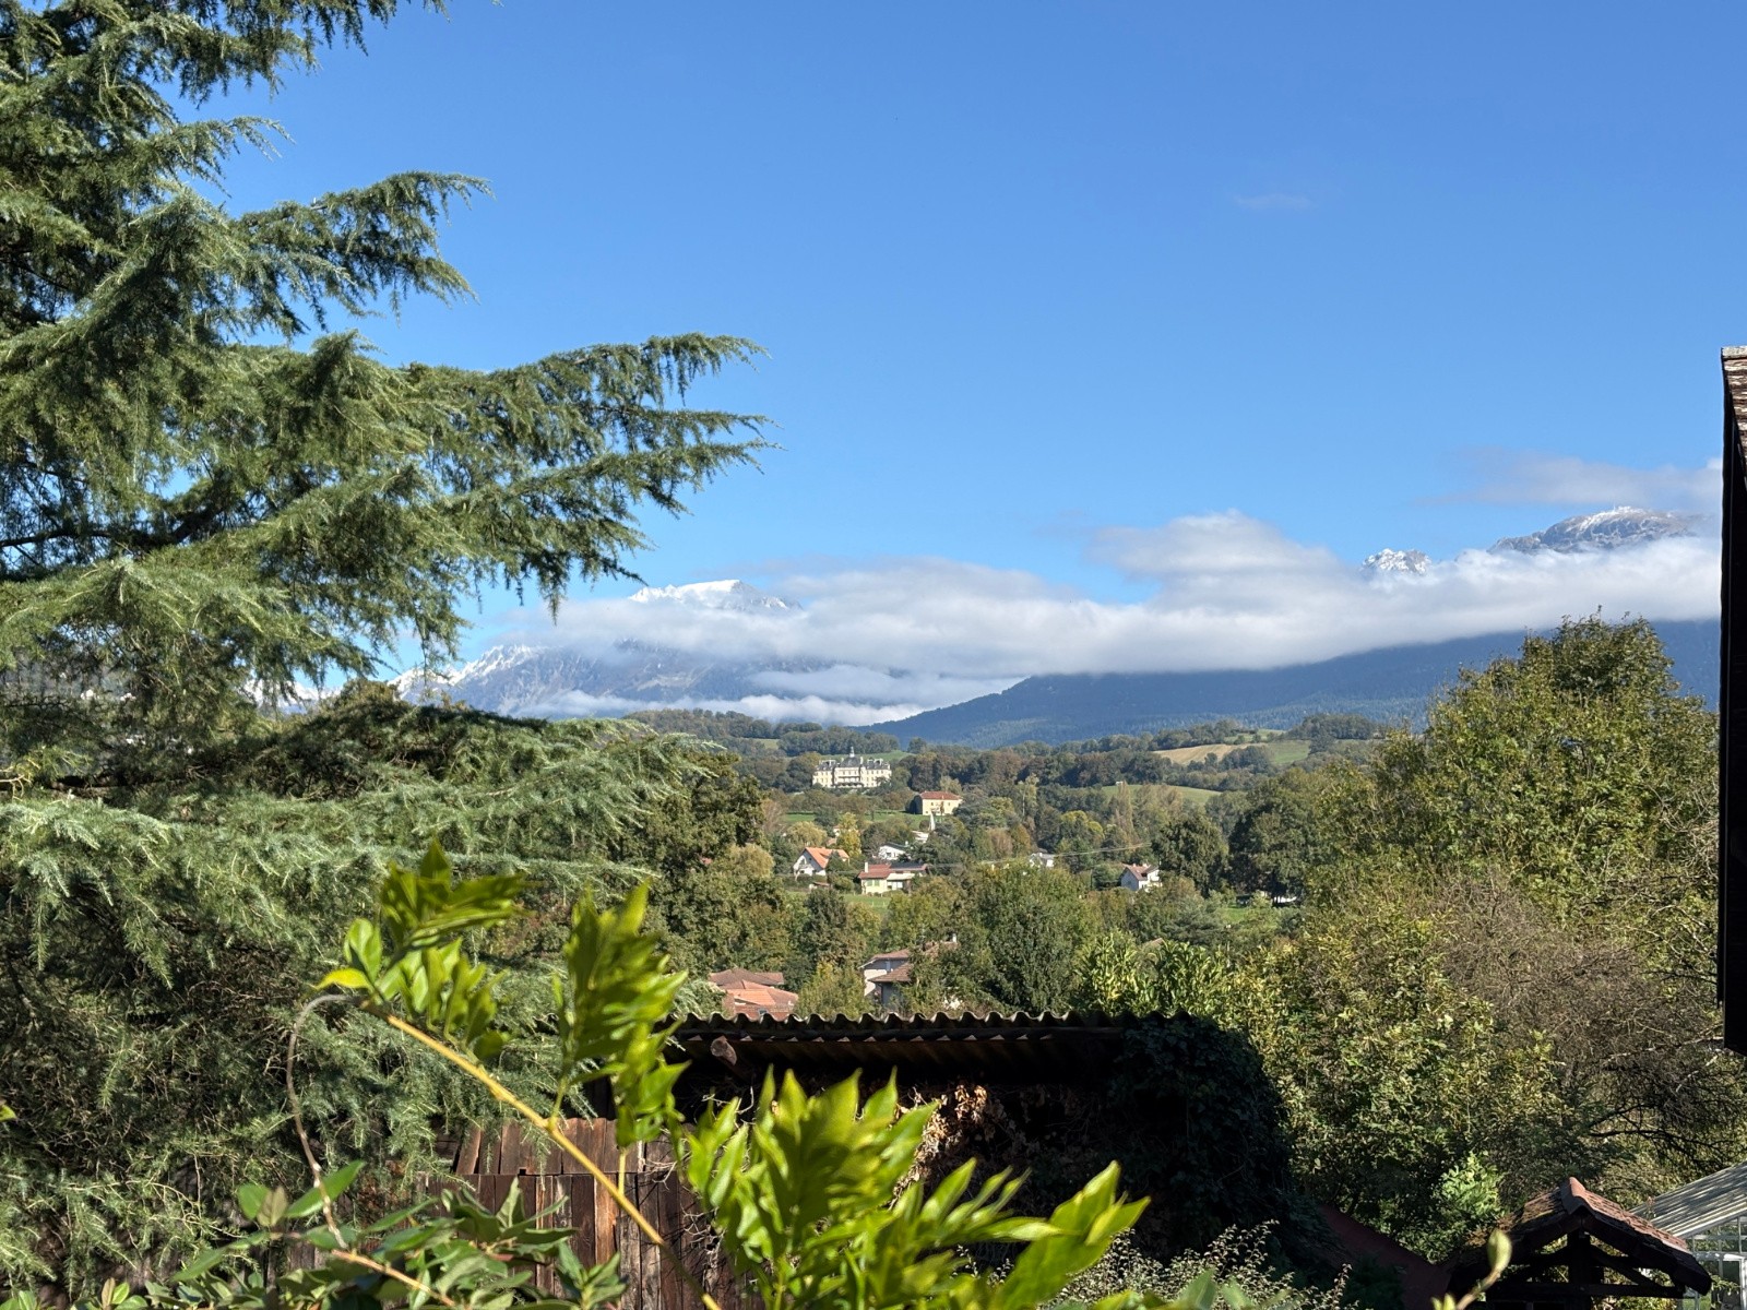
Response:
[{"label": "clear blue sky above the clouds and mountains", "polygon": [[1113,529],[1240,519],[1356,566],[1703,508],[1717,348],[1747,341],[1744,23],[456,0],[293,79],[266,112],[295,141],[232,194],[491,182],[445,236],[477,302],[372,325],[390,358],[762,342],[706,398],[783,449],[650,521],[652,583],[926,587],[943,561],[1157,606],[1169,569]]}]

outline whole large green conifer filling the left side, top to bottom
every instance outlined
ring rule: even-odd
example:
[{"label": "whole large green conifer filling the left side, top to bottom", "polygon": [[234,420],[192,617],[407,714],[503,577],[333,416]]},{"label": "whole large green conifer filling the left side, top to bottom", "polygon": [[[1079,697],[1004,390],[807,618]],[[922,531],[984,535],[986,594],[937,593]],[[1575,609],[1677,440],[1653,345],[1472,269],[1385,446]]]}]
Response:
[{"label": "whole large green conifer filling the left side, top to bottom", "polygon": [[[374,685],[262,709],[407,634],[451,657],[482,587],[556,604],[629,573],[639,515],[760,447],[756,417],[688,402],[756,355],[735,337],[388,363],[370,316],[468,293],[437,236],[473,178],[217,199],[278,129],[183,108],[397,9],[0,0],[0,1284],[152,1268],[293,1169],[262,1051],[409,847],[526,879],[535,912],[480,943],[514,1011],[564,907],[753,823],[723,765],[643,730]],[[405,1041],[339,1029],[300,1055],[334,1149],[404,1163],[489,1118]]]}]

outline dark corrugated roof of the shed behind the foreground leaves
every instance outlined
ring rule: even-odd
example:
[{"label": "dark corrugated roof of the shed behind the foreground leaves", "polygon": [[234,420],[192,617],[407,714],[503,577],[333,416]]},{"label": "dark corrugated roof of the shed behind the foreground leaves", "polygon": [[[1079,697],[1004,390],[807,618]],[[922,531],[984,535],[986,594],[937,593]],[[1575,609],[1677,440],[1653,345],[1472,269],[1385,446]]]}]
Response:
[{"label": "dark corrugated roof of the shed behind the foreground leaves", "polygon": [[1066,1015],[711,1015],[674,1034],[692,1060],[688,1081],[762,1078],[769,1067],[846,1076],[854,1069],[900,1078],[1081,1081],[1102,1072],[1134,1018]]}]

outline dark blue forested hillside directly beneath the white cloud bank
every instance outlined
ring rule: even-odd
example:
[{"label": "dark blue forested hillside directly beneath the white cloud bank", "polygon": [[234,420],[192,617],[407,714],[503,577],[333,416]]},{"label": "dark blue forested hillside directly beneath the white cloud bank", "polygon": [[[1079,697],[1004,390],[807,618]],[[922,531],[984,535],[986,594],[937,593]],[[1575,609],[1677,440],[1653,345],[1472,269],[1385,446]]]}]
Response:
[{"label": "dark blue forested hillside directly beneath the white cloud bank", "polygon": [[[1717,622],[1656,624],[1681,686],[1716,700]],[[1356,713],[1424,721],[1426,702],[1464,667],[1522,648],[1520,632],[1392,646],[1321,664],[1233,672],[1053,674],[1027,678],[998,695],[870,725],[898,741],[924,737],[963,746],[1066,742],[1118,732],[1157,732],[1233,718],[1254,728],[1288,728],[1305,714]]]}]

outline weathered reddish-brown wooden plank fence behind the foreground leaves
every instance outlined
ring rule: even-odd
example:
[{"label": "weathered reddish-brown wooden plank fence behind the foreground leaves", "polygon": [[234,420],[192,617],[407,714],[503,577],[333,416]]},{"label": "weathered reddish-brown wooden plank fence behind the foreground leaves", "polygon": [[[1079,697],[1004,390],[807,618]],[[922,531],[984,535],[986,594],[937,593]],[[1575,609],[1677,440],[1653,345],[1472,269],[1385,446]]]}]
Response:
[{"label": "weathered reddish-brown wooden plank fence behind the foreground leaves", "polygon": [[[618,1146],[611,1120],[566,1120],[564,1135],[618,1181]],[[540,1134],[524,1134],[515,1123],[489,1135],[473,1128],[459,1141],[444,1142],[442,1149],[452,1151],[449,1160],[454,1179],[433,1177],[430,1191],[445,1191],[459,1182],[480,1205],[496,1210],[514,1186],[522,1214],[550,1210],[545,1224],[577,1230],[571,1245],[583,1265],[599,1265],[617,1252],[618,1272],[627,1284],[622,1310],[702,1310],[690,1284],[662,1261],[660,1251],[643,1237],[636,1223],[618,1212],[594,1176]],[[756,1298],[734,1279],[715,1233],[674,1167],[667,1142],[627,1151],[624,1191],[650,1226],[680,1252],[685,1266],[709,1289],[722,1310],[758,1310]],[[307,1251],[307,1258],[313,1256],[314,1251]],[[543,1293],[563,1291],[550,1272],[542,1272],[535,1286]]]}]

